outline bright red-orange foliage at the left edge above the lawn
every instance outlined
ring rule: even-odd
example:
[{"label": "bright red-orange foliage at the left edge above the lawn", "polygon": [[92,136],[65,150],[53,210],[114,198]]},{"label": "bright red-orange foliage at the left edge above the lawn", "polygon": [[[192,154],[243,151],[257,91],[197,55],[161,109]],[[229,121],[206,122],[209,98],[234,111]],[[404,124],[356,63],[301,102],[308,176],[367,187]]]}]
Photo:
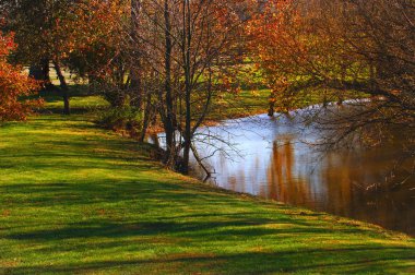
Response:
[{"label": "bright red-orange foliage at the left edge above the lawn", "polygon": [[40,100],[22,99],[33,94],[38,83],[22,74],[22,68],[10,64],[8,57],[15,49],[12,35],[0,32],[0,122],[25,120]]}]

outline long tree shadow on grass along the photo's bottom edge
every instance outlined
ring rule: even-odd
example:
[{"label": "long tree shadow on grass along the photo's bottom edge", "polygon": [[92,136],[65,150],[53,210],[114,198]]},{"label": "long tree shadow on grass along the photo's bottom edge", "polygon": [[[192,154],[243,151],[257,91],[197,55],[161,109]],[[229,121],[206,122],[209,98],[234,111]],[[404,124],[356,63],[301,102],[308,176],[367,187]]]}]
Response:
[{"label": "long tree shadow on grass along the photo's bottom edge", "polygon": [[[285,252],[251,252],[226,255],[179,254],[159,256],[153,260],[124,260],[79,263],[71,266],[31,266],[10,268],[19,274],[50,274],[50,273],[88,273],[124,270],[130,273],[146,272],[146,274],[165,274],[164,270],[177,271],[179,274],[206,272],[209,274],[273,274],[273,273],[316,273],[331,271],[331,274],[344,273],[388,273],[384,270],[396,260],[396,254],[407,253],[408,250],[401,247],[384,248],[383,253],[372,256],[380,248],[351,247],[333,249],[330,251],[305,250]],[[332,253],[337,258],[331,258],[331,262],[324,263],[321,259],[325,253]],[[348,259],[352,254],[368,255],[360,259]],[[341,258],[344,256],[344,258]],[[371,259],[369,259],[369,255]],[[345,260],[343,260],[345,259]],[[414,254],[400,256],[401,260],[415,260]],[[411,265],[410,265],[411,266]],[[415,267],[414,264],[412,264]],[[407,271],[408,266],[394,266],[399,273]],[[400,268],[401,267],[401,268]]]}]

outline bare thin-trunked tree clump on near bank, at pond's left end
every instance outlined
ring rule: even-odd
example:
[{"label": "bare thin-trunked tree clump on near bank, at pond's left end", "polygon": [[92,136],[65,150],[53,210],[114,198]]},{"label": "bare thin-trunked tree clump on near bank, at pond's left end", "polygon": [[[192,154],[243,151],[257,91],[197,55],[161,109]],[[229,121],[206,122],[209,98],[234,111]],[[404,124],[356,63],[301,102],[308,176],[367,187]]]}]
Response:
[{"label": "bare thin-trunked tree clump on near bank, at pond's left end", "polygon": [[139,17],[130,45],[146,68],[143,83],[146,75],[156,80],[151,88],[166,133],[165,162],[171,168],[180,163],[185,174],[190,153],[198,156],[192,143],[212,97],[228,91],[226,74],[244,59],[238,46],[246,20],[237,9],[242,2],[147,0],[133,12]]}]

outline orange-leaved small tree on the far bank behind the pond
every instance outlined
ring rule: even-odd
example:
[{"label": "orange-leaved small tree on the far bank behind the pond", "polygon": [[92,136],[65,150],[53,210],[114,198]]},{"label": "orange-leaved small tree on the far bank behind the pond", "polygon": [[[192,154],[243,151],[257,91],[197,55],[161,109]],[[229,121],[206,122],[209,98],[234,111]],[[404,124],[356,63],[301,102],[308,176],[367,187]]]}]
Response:
[{"label": "orange-leaved small tree on the far bank behind the pond", "polygon": [[[287,110],[295,100],[289,87],[301,73],[308,50],[304,19],[293,0],[269,0],[250,22],[252,57],[271,91],[270,105]],[[306,38],[306,39],[305,39]]]}]

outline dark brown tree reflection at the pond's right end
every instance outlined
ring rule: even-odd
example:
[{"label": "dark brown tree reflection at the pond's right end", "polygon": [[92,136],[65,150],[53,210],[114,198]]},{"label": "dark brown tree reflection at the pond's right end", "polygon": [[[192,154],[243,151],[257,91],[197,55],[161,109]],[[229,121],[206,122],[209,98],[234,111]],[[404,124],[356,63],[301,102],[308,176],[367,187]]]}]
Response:
[{"label": "dark brown tree reflection at the pond's right end", "polygon": [[411,228],[415,211],[407,190],[384,182],[390,159],[376,151],[329,154],[321,170],[323,210],[389,228]]}]

